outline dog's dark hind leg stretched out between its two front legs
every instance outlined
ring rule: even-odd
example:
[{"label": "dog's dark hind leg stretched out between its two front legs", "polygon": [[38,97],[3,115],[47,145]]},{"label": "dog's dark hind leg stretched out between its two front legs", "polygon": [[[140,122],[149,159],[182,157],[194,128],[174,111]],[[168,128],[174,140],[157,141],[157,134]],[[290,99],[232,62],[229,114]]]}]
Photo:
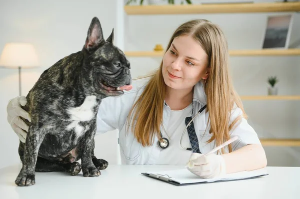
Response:
[{"label": "dog's dark hind leg stretched out between its two front legs", "polygon": [[71,176],[76,176],[81,171],[77,162],[65,163],[62,161],[52,162],[44,158],[37,158],[35,165],[36,172],[67,172]]}]

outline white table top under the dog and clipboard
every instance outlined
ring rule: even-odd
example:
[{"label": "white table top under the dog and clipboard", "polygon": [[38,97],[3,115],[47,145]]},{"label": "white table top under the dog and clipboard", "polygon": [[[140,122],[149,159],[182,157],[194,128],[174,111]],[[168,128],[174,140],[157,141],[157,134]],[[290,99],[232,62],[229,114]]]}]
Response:
[{"label": "white table top under the dog and clipboard", "polygon": [[109,165],[99,177],[37,172],[35,185],[17,187],[20,168],[0,170],[0,199],[300,199],[300,167],[267,167],[269,175],[257,179],[175,186],[140,173],[177,166]]}]

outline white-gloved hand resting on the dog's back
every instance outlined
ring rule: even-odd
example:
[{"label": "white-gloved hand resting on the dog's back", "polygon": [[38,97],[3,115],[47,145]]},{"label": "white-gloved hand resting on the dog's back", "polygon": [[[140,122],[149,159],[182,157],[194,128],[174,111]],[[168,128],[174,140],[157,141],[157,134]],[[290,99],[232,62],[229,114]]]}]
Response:
[{"label": "white-gloved hand resting on the dog's back", "polygon": [[24,106],[27,103],[25,96],[17,96],[8,101],[6,111],[7,111],[7,121],[10,124],[12,130],[19,137],[21,142],[25,142],[26,135],[28,131],[28,125],[20,118],[23,117],[31,122],[30,115],[21,105]]}]

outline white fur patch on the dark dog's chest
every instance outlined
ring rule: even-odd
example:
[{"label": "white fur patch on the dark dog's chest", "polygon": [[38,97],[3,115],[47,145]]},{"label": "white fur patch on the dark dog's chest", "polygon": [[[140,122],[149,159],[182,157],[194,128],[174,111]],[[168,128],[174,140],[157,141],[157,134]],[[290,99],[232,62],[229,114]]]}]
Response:
[{"label": "white fur patch on the dark dog's chest", "polygon": [[87,96],[80,106],[68,109],[67,113],[70,115],[71,120],[89,121],[94,117],[92,109],[96,106],[96,104],[96,96]]}]

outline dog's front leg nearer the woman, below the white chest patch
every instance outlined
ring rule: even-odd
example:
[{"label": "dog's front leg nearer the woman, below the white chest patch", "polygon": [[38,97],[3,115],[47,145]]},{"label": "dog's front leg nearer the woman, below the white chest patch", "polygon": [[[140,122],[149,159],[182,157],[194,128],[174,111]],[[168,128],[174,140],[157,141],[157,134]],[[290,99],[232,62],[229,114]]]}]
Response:
[{"label": "dog's front leg nearer the woman, below the white chest patch", "polygon": [[91,160],[92,141],[96,132],[96,122],[93,120],[89,130],[85,133],[84,138],[81,139],[82,157],[81,157],[81,171],[84,177],[99,176],[100,171],[94,166]]}]

